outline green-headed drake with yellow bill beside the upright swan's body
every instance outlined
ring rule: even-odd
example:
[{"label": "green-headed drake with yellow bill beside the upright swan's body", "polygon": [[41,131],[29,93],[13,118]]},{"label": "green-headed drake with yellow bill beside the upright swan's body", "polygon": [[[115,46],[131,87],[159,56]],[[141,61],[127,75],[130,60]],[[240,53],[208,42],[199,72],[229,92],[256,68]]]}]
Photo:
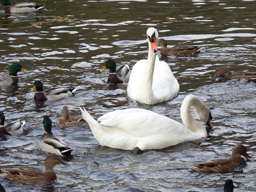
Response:
[{"label": "green-headed drake with yellow bill beside the upright swan's body", "polygon": [[111,83],[127,83],[131,75],[129,66],[123,64],[116,69],[116,62],[113,59],[109,59],[105,62],[105,66],[100,71],[103,72],[106,69],[110,69],[108,82]]}]

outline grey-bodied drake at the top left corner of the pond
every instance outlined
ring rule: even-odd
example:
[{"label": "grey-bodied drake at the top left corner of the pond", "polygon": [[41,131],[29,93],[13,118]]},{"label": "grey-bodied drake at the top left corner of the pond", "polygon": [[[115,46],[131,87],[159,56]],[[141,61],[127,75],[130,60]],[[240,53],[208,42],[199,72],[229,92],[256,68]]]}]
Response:
[{"label": "grey-bodied drake at the top left corner of the pond", "polygon": [[2,0],[0,5],[5,5],[5,13],[31,13],[38,12],[44,8],[42,4],[37,3],[18,3],[11,6],[9,0]]}]

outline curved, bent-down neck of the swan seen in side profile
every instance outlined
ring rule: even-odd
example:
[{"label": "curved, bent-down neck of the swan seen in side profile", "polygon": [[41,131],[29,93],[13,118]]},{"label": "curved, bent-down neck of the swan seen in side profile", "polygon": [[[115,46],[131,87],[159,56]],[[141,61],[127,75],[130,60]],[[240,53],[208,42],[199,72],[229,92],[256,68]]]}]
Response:
[{"label": "curved, bent-down neck of the swan seen in side profile", "polygon": [[[196,96],[194,95],[189,95],[189,97],[187,96],[181,105],[181,109],[180,109],[180,115],[181,115],[181,119],[182,122],[185,124],[185,126],[198,134],[201,134],[202,137],[206,137],[207,136],[207,131],[205,129],[205,127],[202,125],[202,123],[200,123],[199,121],[195,120],[190,113],[190,108],[191,106],[193,107],[196,116],[198,117],[198,119],[202,120],[205,119],[207,117],[202,117],[202,115],[207,114],[204,113],[204,111],[207,111],[207,106],[205,106],[205,104]],[[209,114],[209,112],[208,112]],[[205,122],[204,122],[205,123]]]}]

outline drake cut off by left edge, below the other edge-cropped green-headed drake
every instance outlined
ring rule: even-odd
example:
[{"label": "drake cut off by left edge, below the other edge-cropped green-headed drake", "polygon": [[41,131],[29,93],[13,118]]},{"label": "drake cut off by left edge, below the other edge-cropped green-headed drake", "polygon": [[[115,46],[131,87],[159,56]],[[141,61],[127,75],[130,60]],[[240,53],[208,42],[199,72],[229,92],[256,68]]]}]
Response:
[{"label": "drake cut off by left edge, below the other edge-cropped green-headed drake", "polygon": [[0,111],[0,133],[10,136],[19,137],[23,135],[23,127],[26,124],[23,120],[16,120],[5,124],[5,115]]}]

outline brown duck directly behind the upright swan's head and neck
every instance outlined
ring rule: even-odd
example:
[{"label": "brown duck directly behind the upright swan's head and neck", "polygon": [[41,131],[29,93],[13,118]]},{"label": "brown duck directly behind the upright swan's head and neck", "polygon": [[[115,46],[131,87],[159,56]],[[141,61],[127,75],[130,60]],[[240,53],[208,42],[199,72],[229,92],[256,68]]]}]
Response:
[{"label": "brown duck directly behind the upright swan's head and neck", "polygon": [[172,48],[167,48],[167,42],[164,39],[159,39],[158,46],[161,46],[161,55],[176,55],[176,56],[197,56],[204,47],[179,45]]}]

